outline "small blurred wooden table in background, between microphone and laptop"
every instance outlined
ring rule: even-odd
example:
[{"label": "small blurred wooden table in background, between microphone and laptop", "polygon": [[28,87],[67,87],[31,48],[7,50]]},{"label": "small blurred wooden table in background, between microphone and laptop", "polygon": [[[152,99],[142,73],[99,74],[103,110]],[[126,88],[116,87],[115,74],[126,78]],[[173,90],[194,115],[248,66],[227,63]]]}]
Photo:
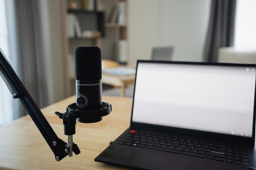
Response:
[{"label": "small blurred wooden table in background, between microphone and laptop", "polygon": [[121,87],[120,96],[124,97],[126,87],[130,84],[134,84],[135,75],[120,76],[120,75],[113,75],[113,74],[107,74],[102,72],[101,79],[103,84],[109,84],[112,86]]}]

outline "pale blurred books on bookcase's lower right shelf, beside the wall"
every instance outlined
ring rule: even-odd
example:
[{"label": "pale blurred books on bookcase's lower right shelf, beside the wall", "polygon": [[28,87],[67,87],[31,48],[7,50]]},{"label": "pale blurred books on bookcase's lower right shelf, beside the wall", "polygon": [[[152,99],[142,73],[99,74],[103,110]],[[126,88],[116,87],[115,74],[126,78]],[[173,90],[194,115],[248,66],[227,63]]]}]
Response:
[{"label": "pale blurred books on bookcase's lower right shelf, beside the wall", "polygon": [[118,40],[115,43],[115,60],[121,64],[126,64],[127,62],[127,41]]}]

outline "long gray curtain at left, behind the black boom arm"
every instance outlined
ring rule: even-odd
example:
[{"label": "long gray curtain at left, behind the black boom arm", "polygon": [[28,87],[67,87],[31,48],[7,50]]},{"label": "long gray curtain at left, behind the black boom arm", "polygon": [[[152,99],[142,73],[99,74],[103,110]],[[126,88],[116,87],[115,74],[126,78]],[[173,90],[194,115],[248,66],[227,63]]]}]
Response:
[{"label": "long gray curtain at left, behind the black boom arm", "polygon": [[[39,0],[13,0],[12,3],[15,18],[13,22],[15,23],[11,23],[9,20],[8,26],[9,30],[13,31],[9,33],[10,36],[15,35],[16,37],[9,37],[12,40],[9,44],[10,60],[15,61],[16,66],[13,68],[18,77],[38,107],[42,108],[49,105],[49,102]],[[16,28],[13,29],[13,26]],[[11,51],[14,44],[16,44],[16,50]],[[16,100],[14,119],[27,113],[20,101]]]}]

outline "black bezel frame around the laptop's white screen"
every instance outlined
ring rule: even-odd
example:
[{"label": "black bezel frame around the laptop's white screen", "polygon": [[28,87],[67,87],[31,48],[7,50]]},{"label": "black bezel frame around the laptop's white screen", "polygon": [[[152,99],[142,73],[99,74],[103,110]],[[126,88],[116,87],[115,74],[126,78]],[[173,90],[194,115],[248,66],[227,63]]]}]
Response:
[{"label": "black bezel frame around the laptop's white screen", "polygon": [[[207,63],[207,62],[177,62],[177,61],[157,61],[157,60],[137,60],[136,65],[136,74],[135,74],[135,86],[134,86],[134,93],[136,88],[136,80],[137,80],[137,68],[140,63],[164,63],[164,64],[193,64],[193,65],[204,65],[204,66],[245,66],[245,67],[255,67],[256,64],[234,64],[234,63]],[[256,86],[255,86],[256,92]],[[222,141],[227,143],[234,143],[234,144],[247,144],[250,146],[254,146],[255,144],[255,119],[256,119],[256,93],[254,93],[254,115],[253,115],[253,126],[252,126],[252,137],[241,137],[235,135],[227,135],[215,132],[206,132],[200,130],[191,130],[186,128],[175,128],[169,126],[160,126],[154,124],[145,124],[139,122],[132,121],[133,115],[133,108],[134,108],[134,97],[133,94],[133,101],[132,101],[132,114],[130,119],[130,128],[134,130],[148,130],[148,131],[155,131],[155,132],[162,132],[162,133],[169,133],[174,135],[181,135],[186,137],[196,137],[198,139],[209,139],[214,141]]]}]

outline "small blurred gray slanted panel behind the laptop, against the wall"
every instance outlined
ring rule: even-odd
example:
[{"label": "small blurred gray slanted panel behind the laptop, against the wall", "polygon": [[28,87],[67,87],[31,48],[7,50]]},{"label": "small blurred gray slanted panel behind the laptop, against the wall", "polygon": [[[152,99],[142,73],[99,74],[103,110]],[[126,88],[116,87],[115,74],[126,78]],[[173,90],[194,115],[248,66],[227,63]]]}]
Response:
[{"label": "small blurred gray slanted panel behind the laptop, against the wall", "polygon": [[171,60],[173,55],[173,46],[153,47],[151,60]]}]

